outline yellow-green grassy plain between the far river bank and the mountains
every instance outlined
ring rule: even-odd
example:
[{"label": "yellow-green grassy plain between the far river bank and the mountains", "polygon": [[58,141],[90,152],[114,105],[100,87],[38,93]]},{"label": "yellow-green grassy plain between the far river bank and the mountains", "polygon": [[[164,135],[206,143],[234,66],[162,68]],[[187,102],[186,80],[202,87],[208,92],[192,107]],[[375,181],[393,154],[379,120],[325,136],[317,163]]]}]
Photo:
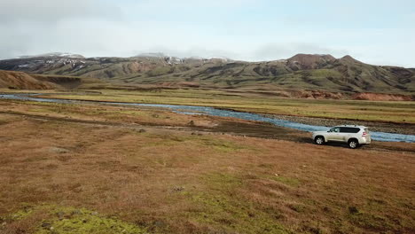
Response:
[{"label": "yellow-green grassy plain between the far river bank and the mountains", "polygon": [[204,105],[243,112],[323,117],[352,121],[415,123],[415,103],[398,101],[279,98],[263,93],[226,90],[98,90],[101,94],[67,93],[51,98],[152,104]]}]

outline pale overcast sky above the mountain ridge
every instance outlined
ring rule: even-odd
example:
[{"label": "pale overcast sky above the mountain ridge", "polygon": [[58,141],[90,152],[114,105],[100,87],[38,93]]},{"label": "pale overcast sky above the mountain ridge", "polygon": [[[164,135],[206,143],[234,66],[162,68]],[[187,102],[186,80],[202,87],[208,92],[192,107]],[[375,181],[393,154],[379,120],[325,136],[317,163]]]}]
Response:
[{"label": "pale overcast sky above the mountain ridge", "polygon": [[346,54],[415,67],[413,0],[0,0],[0,58]]}]

